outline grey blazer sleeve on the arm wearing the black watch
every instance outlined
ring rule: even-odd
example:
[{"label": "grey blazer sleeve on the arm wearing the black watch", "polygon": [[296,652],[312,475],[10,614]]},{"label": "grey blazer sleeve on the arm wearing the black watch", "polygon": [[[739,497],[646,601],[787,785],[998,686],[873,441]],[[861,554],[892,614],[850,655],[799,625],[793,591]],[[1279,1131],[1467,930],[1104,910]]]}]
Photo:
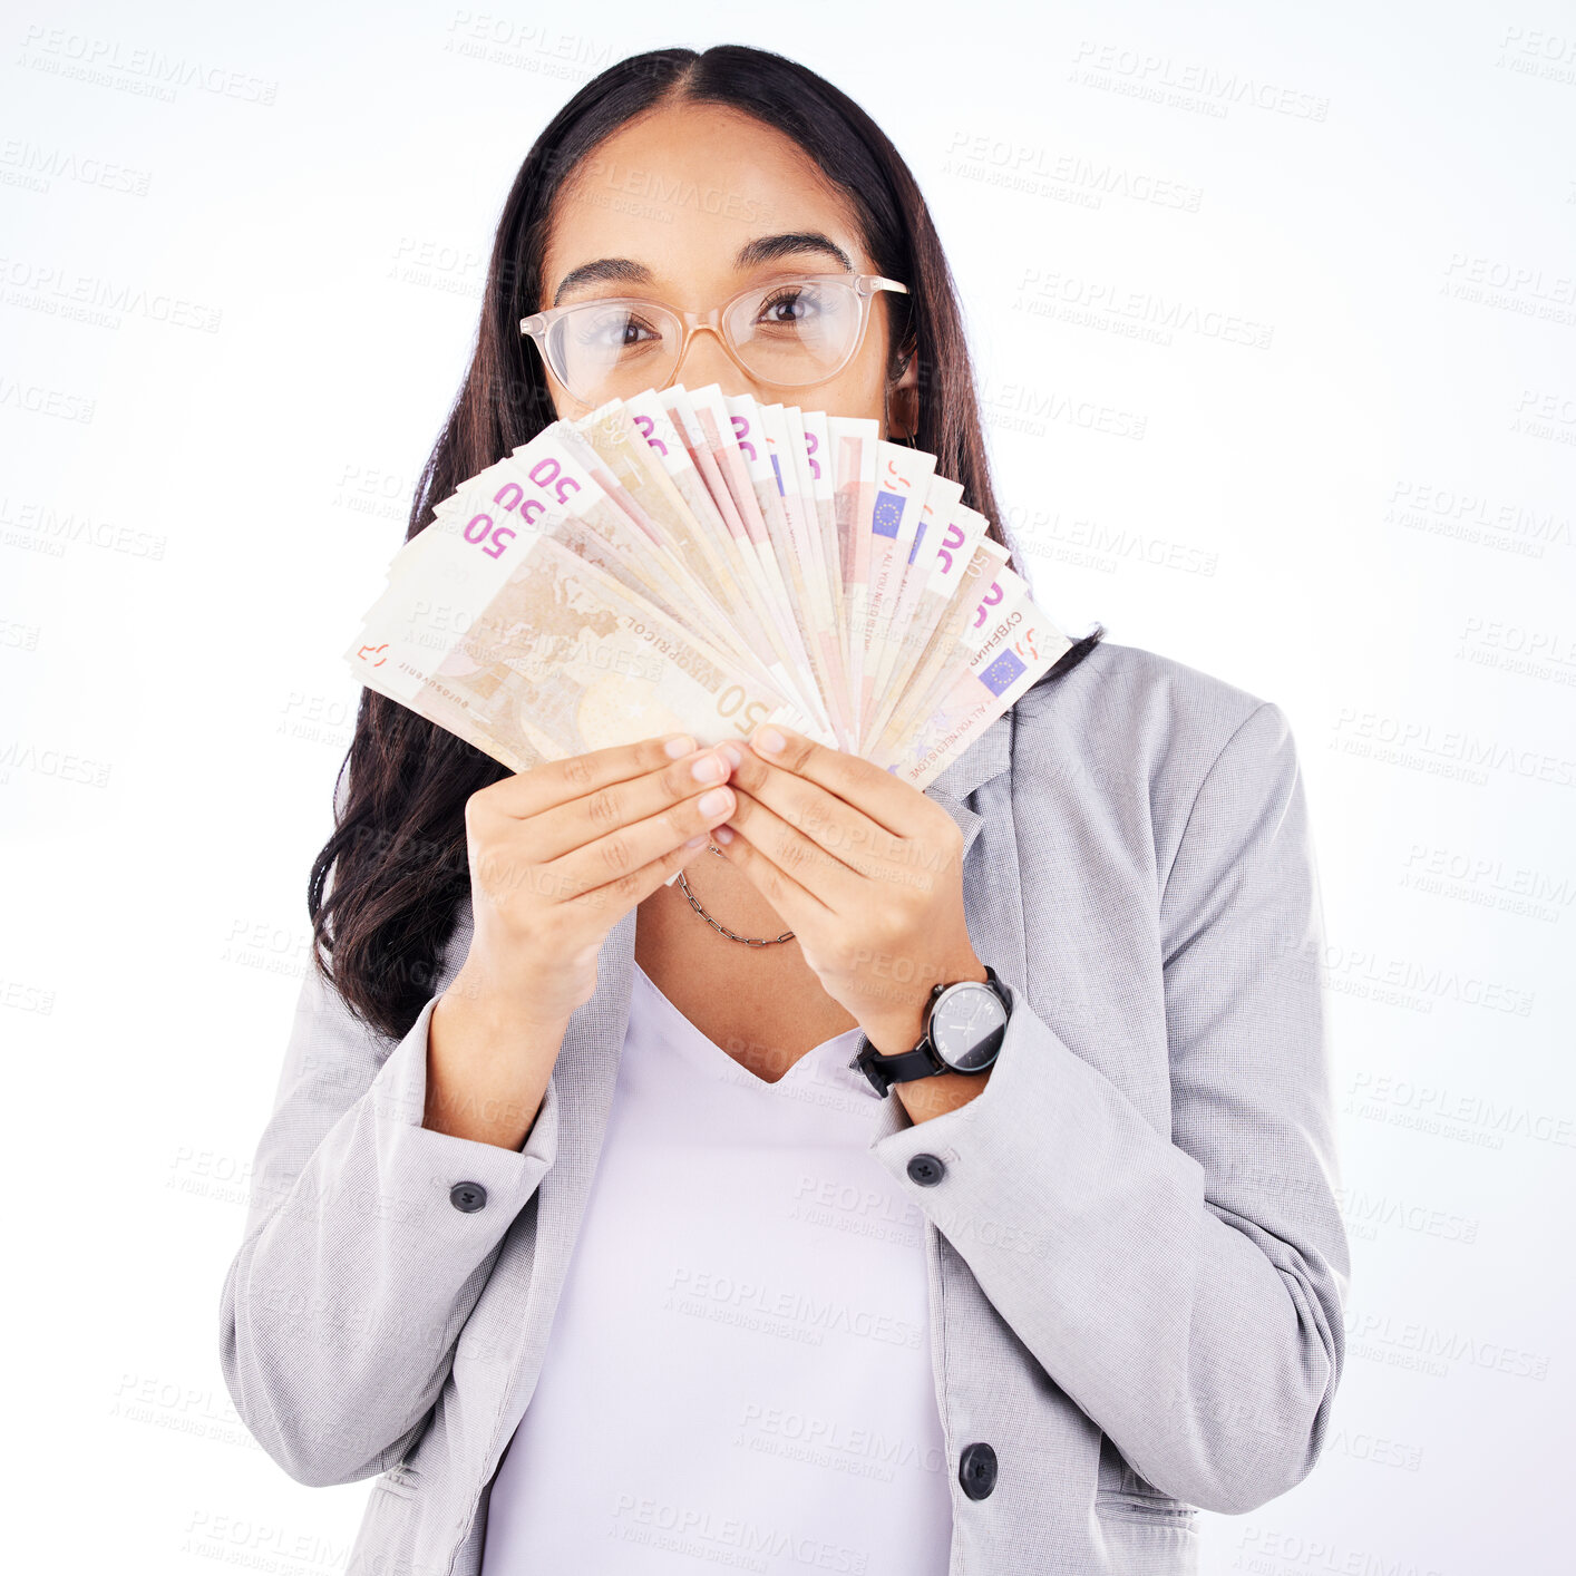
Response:
[{"label": "grey blazer sleeve on the arm wearing the black watch", "polygon": [[[1024,991],[985,1089],[875,1155],[1045,1371],[1155,1488],[1240,1515],[1302,1481],[1344,1360],[1349,1250],[1295,745],[1262,701],[1160,898],[1171,1133]],[[906,1177],[946,1158],[939,1184]]]}]

